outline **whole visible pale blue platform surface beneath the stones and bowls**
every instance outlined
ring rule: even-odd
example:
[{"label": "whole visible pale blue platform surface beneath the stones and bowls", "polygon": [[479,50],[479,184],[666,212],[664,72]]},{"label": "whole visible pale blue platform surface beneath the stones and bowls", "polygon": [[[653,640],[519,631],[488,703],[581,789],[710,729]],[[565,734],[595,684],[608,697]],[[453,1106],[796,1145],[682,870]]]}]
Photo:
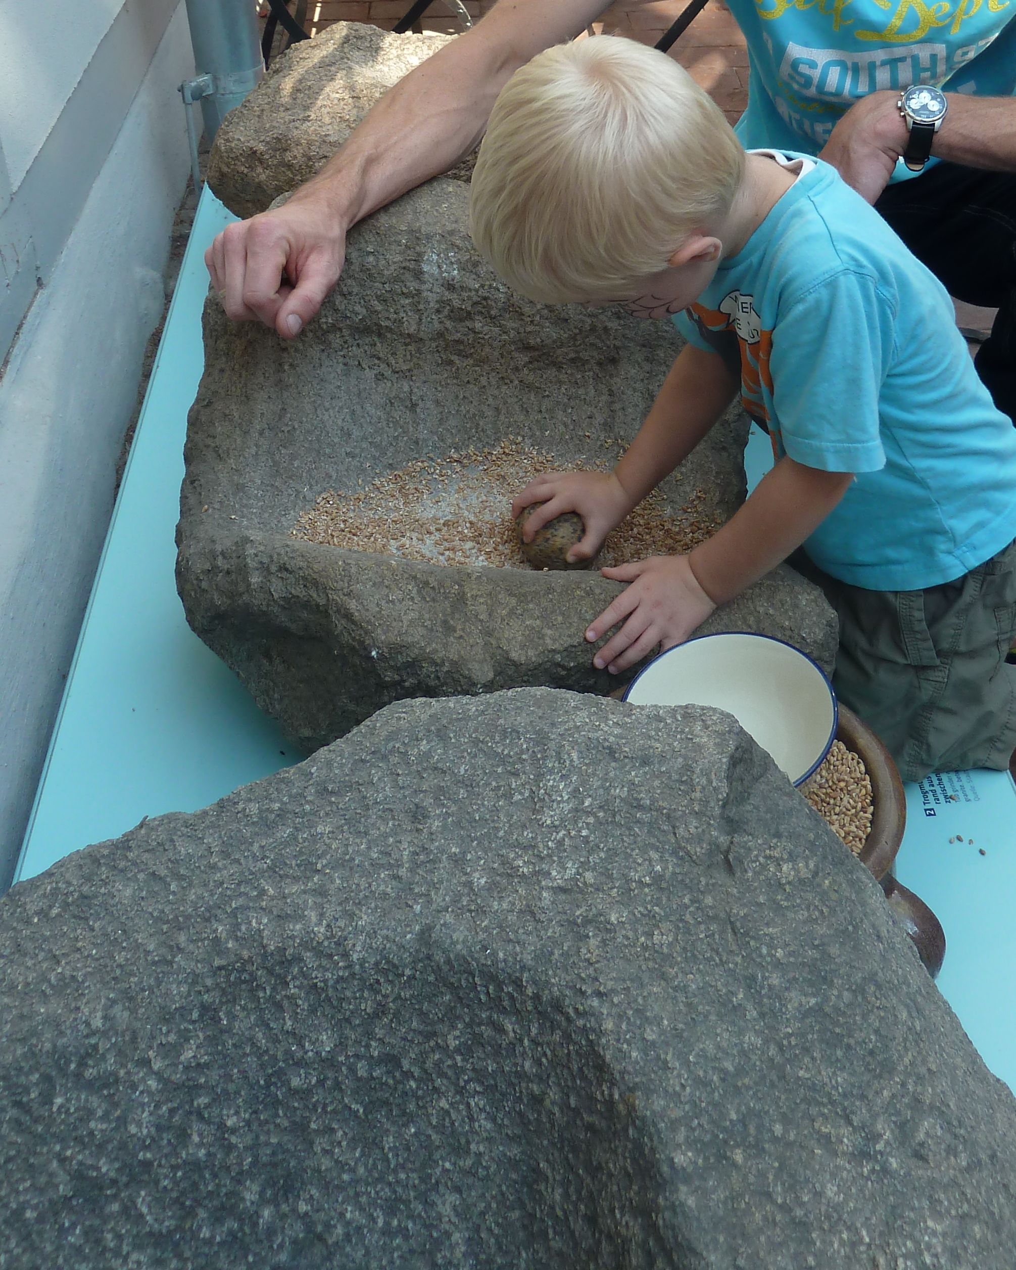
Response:
[{"label": "whole visible pale blue platform surface beneath the stones and bowls", "polygon": [[[192,634],[174,582],[186,413],[203,364],[203,254],[230,218],[205,189],[15,880],[302,757]],[[769,462],[756,433],[746,455],[752,484]],[[939,987],[992,1071],[1016,1088],[1016,787],[1006,773],[958,773],[911,786],[907,798],[897,872],[945,927]]]}]

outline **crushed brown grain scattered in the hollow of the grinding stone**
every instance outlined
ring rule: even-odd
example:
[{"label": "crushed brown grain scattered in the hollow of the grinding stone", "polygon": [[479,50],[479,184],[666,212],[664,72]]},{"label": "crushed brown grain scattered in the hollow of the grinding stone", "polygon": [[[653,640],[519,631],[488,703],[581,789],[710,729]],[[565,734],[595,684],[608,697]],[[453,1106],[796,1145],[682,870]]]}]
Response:
[{"label": "crushed brown grain scattered in the hollow of the grinding stone", "polygon": [[[491,450],[450,451],[416,460],[353,494],[329,490],[303,512],[293,537],[346,551],[373,551],[444,565],[531,568],[519,550],[511,500],[542,472],[564,466],[553,455],[509,437]],[[599,470],[599,469],[589,469]],[[597,564],[690,551],[719,521],[695,490],[680,513],[663,495],[648,498],[608,535]]]}]

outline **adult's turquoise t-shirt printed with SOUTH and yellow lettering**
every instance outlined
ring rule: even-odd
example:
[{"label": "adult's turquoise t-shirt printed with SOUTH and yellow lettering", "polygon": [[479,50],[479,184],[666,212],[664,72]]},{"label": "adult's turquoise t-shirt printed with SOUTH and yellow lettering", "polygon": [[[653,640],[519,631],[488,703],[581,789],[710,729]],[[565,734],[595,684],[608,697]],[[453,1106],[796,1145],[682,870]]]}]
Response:
[{"label": "adult's turquoise t-shirt printed with SOUTH and yellow lettering", "polygon": [[[748,44],[746,149],[818,154],[879,89],[1016,91],[1016,0],[728,0]],[[893,179],[913,177],[902,163]]]}]

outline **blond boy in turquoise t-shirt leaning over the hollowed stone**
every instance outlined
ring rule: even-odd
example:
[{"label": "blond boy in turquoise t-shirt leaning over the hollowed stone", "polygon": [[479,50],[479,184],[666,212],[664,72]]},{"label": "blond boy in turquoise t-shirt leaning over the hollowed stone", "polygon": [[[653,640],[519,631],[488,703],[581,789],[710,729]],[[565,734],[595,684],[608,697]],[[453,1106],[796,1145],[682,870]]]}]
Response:
[{"label": "blond boy in turquoise t-shirt leaning over the hollowed stone", "polygon": [[[575,558],[701,439],[739,389],[775,466],[687,555],[616,569],[586,631],[618,673],[687,639],[803,546],[841,621],[835,686],[903,776],[1005,767],[1016,745],[1016,433],[940,283],[824,164],[745,154],[670,58],[616,37],[548,50],[491,114],[471,227],[515,290],[674,316],[687,339],[613,472],[554,472]],[[797,559],[797,558],[795,558]]]}]

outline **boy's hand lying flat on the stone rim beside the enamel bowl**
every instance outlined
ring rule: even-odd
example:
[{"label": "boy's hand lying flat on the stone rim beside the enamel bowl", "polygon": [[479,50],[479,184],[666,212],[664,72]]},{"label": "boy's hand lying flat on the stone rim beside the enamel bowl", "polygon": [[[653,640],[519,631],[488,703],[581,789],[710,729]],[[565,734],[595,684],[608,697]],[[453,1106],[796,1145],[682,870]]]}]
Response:
[{"label": "boy's hand lying flat on the stone rim beside the enamel bowl", "polygon": [[611,674],[627,671],[657,644],[666,652],[684,643],[717,607],[695,580],[687,556],[651,556],[600,573],[615,582],[632,583],[586,631],[586,639],[594,644],[628,618],[592,659],[599,671],[606,667]]}]

